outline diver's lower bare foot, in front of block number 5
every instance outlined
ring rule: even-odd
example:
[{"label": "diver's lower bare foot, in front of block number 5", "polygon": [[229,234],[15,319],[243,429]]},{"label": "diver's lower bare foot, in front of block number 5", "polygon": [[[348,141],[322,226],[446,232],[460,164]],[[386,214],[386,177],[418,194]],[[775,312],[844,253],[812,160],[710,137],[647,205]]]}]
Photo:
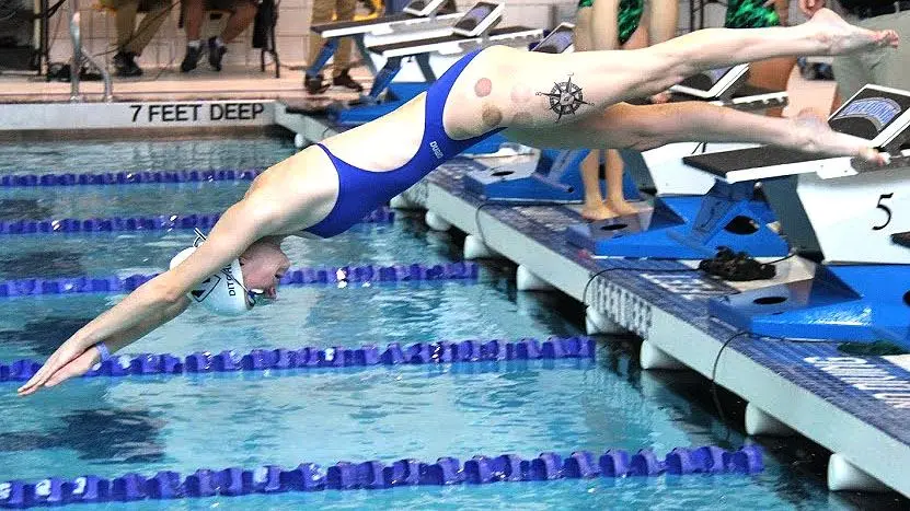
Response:
[{"label": "diver's lower bare foot, in front of block number 5", "polygon": [[832,130],[823,117],[806,108],[793,119],[800,151],[830,156],[856,156],[871,163],[884,165],[888,155],[869,146],[869,141],[852,135]]}]

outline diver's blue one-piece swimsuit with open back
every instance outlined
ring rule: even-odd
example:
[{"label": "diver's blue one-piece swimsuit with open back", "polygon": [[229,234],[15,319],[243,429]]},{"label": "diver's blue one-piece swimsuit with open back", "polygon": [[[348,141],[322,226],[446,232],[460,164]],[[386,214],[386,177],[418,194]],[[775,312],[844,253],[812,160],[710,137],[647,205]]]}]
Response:
[{"label": "diver's blue one-piece swimsuit with open back", "polygon": [[338,198],[327,217],[304,231],[320,237],[331,237],[347,231],[367,213],[413,186],[447,160],[503,130],[498,128],[466,140],[452,140],[442,127],[442,109],[449,91],[464,67],[479,53],[480,50],[472,51],[462,57],[427,90],[424,137],[417,153],[404,165],[388,172],[365,171],[332,154],[325,146],[316,144],[325,151],[338,173]]}]

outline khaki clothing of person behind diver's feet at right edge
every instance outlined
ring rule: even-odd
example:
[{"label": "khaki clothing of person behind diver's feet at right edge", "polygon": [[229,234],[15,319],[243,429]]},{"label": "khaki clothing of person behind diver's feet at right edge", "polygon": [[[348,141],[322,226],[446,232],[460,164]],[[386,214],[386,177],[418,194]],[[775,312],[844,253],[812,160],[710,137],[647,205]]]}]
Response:
[{"label": "khaki clothing of person behind diver's feet at right edge", "polygon": [[834,57],[834,80],[841,97],[846,101],[866,83],[910,90],[910,11],[865,20],[848,15],[846,20],[864,28],[897,31],[900,47]]}]

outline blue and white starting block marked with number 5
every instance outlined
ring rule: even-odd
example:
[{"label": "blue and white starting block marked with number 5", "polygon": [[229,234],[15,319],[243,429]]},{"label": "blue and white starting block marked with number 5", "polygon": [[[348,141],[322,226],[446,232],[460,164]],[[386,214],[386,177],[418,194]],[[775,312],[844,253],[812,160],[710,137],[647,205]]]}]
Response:
[{"label": "blue and white starting block marked with number 5", "polygon": [[[910,135],[910,93],[866,85],[829,124],[899,151]],[[781,225],[790,233],[798,217],[807,218],[825,263],[808,280],[712,299],[711,314],[755,335],[890,340],[910,349],[910,201],[898,199],[910,196],[910,154],[892,154],[879,167],[770,148],[745,151],[687,160],[728,182],[797,176],[802,209],[782,210]]]}]

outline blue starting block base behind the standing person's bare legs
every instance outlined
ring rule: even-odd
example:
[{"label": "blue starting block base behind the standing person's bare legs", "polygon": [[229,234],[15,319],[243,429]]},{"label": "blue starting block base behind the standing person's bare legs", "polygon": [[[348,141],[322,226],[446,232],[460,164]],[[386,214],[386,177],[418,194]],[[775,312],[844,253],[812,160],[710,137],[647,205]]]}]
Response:
[{"label": "blue starting block base behind the standing person's bare legs", "polygon": [[[464,176],[464,189],[491,202],[581,202],[581,162],[588,150],[543,149],[529,163],[487,166]],[[626,200],[642,200],[638,188],[623,175]]]}]

